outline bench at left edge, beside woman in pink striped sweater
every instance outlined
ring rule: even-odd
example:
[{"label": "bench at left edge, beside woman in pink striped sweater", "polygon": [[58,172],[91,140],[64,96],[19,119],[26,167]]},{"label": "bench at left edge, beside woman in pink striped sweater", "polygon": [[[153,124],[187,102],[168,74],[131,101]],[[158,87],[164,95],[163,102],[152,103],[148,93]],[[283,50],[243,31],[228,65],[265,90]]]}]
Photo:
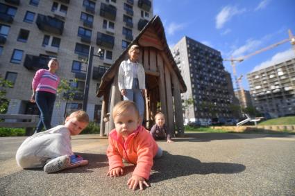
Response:
[{"label": "bench at left edge, beside woman in pink striped sweater", "polygon": [[17,120],[14,122],[2,121],[0,127],[26,128],[26,136],[31,136],[34,133],[33,128],[37,127],[40,118],[38,115],[31,114],[0,114],[0,119]]}]

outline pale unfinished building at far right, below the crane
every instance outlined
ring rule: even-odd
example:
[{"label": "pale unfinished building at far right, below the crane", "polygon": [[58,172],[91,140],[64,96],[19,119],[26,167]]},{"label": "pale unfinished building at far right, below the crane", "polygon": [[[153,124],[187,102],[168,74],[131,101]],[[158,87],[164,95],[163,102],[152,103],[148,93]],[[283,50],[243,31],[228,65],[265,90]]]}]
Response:
[{"label": "pale unfinished building at far right, below the crane", "polygon": [[264,116],[295,114],[295,59],[247,74],[253,104]]}]

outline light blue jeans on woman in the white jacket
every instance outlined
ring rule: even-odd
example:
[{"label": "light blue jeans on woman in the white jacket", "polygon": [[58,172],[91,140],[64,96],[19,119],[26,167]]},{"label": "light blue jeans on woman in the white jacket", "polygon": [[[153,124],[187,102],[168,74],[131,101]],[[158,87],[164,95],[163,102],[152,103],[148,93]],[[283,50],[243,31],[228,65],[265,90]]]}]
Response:
[{"label": "light blue jeans on woman in the white jacket", "polygon": [[138,88],[138,80],[133,79],[133,89],[126,89],[126,94],[123,96],[124,100],[131,100],[137,106],[138,112],[140,112],[140,118],[144,117],[144,98],[142,97],[142,91]]}]

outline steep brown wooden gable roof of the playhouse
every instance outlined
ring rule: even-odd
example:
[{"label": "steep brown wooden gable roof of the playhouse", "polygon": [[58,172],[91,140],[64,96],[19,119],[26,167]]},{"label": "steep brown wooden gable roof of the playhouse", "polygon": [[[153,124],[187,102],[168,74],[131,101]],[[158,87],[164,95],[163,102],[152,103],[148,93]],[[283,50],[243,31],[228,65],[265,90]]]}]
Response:
[{"label": "steep brown wooden gable roof of the playhouse", "polygon": [[[103,74],[103,77],[101,78],[101,84],[99,85],[99,91],[97,91],[96,96],[101,97],[104,93],[108,93],[108,89],[110,89],[112,80],[115,78],[117,68],[121,64],[121,62],[125,60],[125,57],[128,53],[130,46],[132,46],[133,44],[139,44],[140,46],[142,46],[140,44],[142,40],[151,43],[151,46],[159,48],[161,51],[165,52],[169,60],[169,63],[174,69],[180,82],[181,93],[187,91],[187,87],[185,85],[183,77],[180,74],[178,66],[174,61],[174,57],[172,56],[170,48],[167,44],[167,39],[165,36],[165,30],[162,21],[158,15],[155,15],[151,19],[151,21],[149,21],[149,23],[147,23],[146,26],[144,26],[144,28],[140,31],[139,35],[137,35],[137,37],[133,39],[133,42],[129,44],[128,48],[126,48],[126,50],[123,53],[121,53],[121,55],[119,55],[115,63],[112,64],[112,66],[110,66],[110,69],[108,69],[108,71],[106,71],[106,73]],[[160,40],[160,43],[162,44],[161,46],[156,44],[158,42],[155,41],[158,40]]]}]

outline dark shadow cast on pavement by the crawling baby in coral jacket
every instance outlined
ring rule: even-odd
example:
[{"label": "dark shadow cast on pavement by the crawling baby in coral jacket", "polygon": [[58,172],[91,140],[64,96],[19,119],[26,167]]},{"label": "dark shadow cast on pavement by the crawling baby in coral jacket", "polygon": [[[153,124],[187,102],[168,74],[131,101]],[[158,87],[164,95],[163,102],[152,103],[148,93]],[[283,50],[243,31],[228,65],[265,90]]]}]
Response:
[{"label": "dark shadow cast on pavement by the crawling baby in coral jacket", "polygon": [[188,175],[233,174],[242,172],[246,166],[239,163],[202,163],[198,159],[163,152],[155,159],[149,182],[158,182]]}]

